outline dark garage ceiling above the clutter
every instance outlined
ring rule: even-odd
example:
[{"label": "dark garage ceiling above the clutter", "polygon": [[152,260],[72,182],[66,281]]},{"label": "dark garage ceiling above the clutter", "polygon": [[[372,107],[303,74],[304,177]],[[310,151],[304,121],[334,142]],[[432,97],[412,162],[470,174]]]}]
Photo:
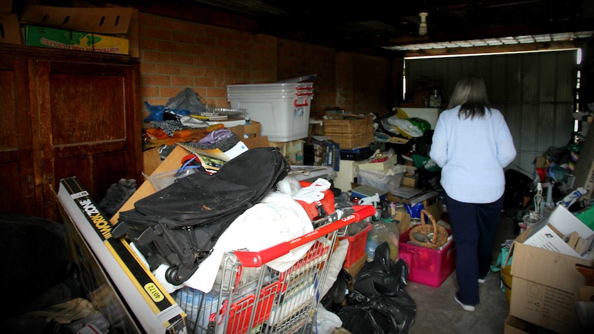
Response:
[{"label": "dark garage ceiling above the clutter", "polygon": [[[43,1],[44,3],[52,1]],[[56,0],[53,2],[68,2]],[[143,12],[314,43],[339,51],[402,53],[427,43],[424,53],[444,51],[441,43],[541,36],[535,43],[487,47],[564,48],[581,45],[594,31],[592,0],[112,0],[87,2],[134,6]],[[427,34],[419,34],[427,12]],[[544,39],[542,39],[544,36]],[[546,38],[549,36],[549,39]],[[553,38],[555,37],[555,38]],[[555,40],[556,39],[556,40]],[[554,43],[553,43],[554,42]],[[530,46],[527,46],[531,44]],[[466,45],[464,53],[484,50]],[[407,50],[402,50],[407,49]],[[415,48],[412,48],[414,50]],[[416,48],[419,49],[419,48]],[[433,49],[433,50],[429,50]],[[436,51],[438,50],[438,51]],[[484,51],[486,52],[486,51]]]}]

